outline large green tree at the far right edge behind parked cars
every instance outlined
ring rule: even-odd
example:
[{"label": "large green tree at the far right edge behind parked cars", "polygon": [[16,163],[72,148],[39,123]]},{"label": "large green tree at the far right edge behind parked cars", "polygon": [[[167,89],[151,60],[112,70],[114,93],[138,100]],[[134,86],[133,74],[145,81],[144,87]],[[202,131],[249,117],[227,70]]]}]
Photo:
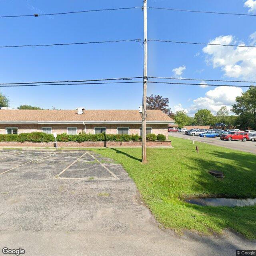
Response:
[{"label": "large green tree at the far right edge behind parked cars", "polygon": [[242,96],[236,97],[232,112],[239,115],[237,124],[240,128],[256,129],[256,87],[250,87]]}]

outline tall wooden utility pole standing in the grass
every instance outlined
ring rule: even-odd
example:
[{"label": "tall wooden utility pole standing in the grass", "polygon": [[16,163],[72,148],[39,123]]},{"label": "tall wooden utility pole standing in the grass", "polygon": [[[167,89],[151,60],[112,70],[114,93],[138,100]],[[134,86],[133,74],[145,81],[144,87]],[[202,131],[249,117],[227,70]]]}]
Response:
[{"label": "tall wooden utility pole standing in the grass", "polygon": [[143,100],[142,100],[142,163],[147,162],[146,158],[146,107],[147,107],[147,81],[148,81],[148,15],[147,1],[143,0],[144,11],[144,78],[143,78]]}]

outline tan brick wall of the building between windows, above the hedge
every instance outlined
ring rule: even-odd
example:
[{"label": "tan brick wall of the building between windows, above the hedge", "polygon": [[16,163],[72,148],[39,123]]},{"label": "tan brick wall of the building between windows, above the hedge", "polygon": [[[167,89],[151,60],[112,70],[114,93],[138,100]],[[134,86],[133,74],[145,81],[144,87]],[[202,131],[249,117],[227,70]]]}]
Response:
[{"label": "tan brick wall of the building between windows, above the hedge", "polygon": [[[51,127],[52,132],[61,134],[67,132],[68,127],[76,127],[77,134],[84,131],[83,124],[0,124],[0,134],[6,133],[6,127],[18,127],[18,134],[22,132],[42,132],[42,127]],[[117,127],[129,127],[129,134],[140,135],[140,124],[86,124],[86,133],[94,134],[94,127],[106,127],[106,134],[117,134]],[[167,124],[148,124],[152,133],[163,134],[168,138]]]}]

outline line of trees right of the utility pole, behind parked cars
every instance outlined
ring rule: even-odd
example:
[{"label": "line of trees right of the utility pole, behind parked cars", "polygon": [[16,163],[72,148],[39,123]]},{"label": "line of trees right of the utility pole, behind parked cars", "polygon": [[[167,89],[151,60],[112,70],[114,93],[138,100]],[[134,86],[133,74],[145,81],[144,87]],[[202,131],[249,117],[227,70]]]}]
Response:
[{"label": "line of trees right of the utility pole, behind parked cars", "polygon": [[236,97],[236,103],[232,105],[230,115],[226,106],[222,106],[216,115],[206,108],[198,110],[194,117],[188,116],[184,110],[172,112],[169,108],[169,99],[160,95],[147,97],[147,109],[159,109],[175,120],[180,128],[188,125],[211,125],[217,123],[228,127],[256,130],[256,87],[251,86],[242,96]]}]

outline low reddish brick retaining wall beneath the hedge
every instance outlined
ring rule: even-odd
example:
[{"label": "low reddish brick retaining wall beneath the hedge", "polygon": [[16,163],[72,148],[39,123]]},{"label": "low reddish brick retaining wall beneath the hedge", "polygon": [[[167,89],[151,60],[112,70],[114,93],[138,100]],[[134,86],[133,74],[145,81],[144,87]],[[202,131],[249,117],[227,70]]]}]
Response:
[{"label": "low reddish brick retaining wall beneath the hedge", "polygon": [[[93,148],[93,147],[136,147],[141,146],[141,141],[85,141],[85,142],[58,142],[59,148]],[[16,142],[16,141],[1,141],[0,147],[54,147],[55,142]],[[166,141],[147,141],[146,146],[148,147],[168,147],[172,146],[170,140]]]}]

